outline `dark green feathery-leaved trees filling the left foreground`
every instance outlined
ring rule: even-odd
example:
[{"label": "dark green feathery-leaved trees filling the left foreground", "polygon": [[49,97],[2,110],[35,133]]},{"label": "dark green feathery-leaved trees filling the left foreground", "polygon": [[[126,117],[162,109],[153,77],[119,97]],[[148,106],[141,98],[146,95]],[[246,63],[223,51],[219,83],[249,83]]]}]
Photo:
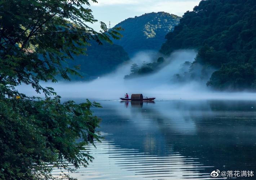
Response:
[{"label": "dark green feathery-leaved trees filling the left foreground", "polygon": [[[119,39],[120,28],[88,26],[97,21],[89,6],[89,0],[0,1],[0,179],[48,179],[53,168],[73,171],[68,163],[78,168],[92,161],[84,146],[100,141],[100,120],[90,109],[100,105],[61,103],[53,88],[40,85],[57,82],[58,74],[66,80],[79,75],[78,67],[62,64],[85,54],[89,40]],[[21,84],[46,99],[19,93]]]}]

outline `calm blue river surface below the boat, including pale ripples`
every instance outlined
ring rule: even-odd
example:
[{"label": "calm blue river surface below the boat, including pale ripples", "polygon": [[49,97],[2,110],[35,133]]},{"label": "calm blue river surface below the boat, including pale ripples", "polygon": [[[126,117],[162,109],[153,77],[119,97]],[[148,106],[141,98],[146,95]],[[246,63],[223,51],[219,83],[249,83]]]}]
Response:
[{"label": "calm blue river surface below the boat, including pale ripples", "polygon": [[[255,101],[101,101],[105,140],[78,179],[225,179],[213,170],[254,171]],[[56,171],[57,172],[57,171]],[[234,173],[233,173],[234,177]]]}]

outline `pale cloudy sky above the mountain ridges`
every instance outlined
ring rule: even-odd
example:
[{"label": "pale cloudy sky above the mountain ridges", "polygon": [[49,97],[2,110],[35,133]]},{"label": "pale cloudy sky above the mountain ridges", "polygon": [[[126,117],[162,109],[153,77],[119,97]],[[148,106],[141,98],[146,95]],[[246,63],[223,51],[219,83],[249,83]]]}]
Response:
[{"label": "pale cloudy sky above the mountain ridges", "polygon": [[[201,0],[97,0],[91,2],[93,15],[98,21],[111,27],[115,24],[134,16],[151,12],[167,12],[182,16],[187,10],[193,10]],[[99,23],[91,25],[94,30],[99,30]]]}]

